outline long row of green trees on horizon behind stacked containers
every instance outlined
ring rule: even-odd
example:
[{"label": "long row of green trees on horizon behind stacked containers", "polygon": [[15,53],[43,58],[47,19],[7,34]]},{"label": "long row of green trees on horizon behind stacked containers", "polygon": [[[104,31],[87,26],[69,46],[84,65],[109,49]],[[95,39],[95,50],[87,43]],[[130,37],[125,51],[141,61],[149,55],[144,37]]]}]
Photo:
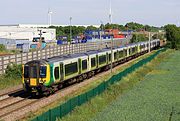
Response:
[{"label": "long row of green trees on horizon behind stacked containers", "polygon": [[[49,28],[55,28],[56,29],[56,36],[67,36],[68,38],[70,37],[70,26],[51,26]],[[147,30],[150,32],[158,32],[158,30],[161,30],[163,28],[159,28],[159,27],[153,27],[153,26],[149,26],[149,25],[142,25],[142,24],[138,24],[138,23],[134,23],[134,22],[130,22],[127,23],[125,26],[124,25],[120,25],[120,24],[101,24],[99,28],[96,28],[94,26],[87,26],[87,27],[83,27],[83,26],[72,26],[72,36],[77,36],[80,35],[82,33],[84,33],[86,30],[104,30],[104,29],[119,29],[120,31],[126,31],[126,30],[133,30],[133,31],[141,31],[141,30]],[[58,39],[58,38],[57,38]]]}]

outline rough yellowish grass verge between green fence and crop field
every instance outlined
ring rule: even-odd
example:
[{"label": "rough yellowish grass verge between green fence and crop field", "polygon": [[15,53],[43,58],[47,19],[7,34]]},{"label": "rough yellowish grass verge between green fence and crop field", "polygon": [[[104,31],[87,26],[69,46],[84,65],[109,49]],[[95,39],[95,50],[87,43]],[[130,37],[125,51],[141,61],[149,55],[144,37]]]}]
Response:
[{"label": "rough yellowish grass verge between green fence and crop field", "polygon": [[[143,68],[136,70],[134,73],[123,78],[119,83],[111,86],[102,95],[95,97],[94,99],[92,99],[91,101],[89,101],[88,103],[86,103],[80,107],[77,107],[71,114],[67,115],[66,117],[64,117],[62,119],[58,119],[58,120],[59,121],[119,120],[119,117],[118,117],[119,114],[116,113],[116,111],[118,111],[118,109],[116,109],[113,113],[111,113],[111,115],[109,115],[109,112],[113,109],[106,108],[106,107],[108,105],[110,105],[111,103],[112,103],[111,105],[113,106],[114,101],[119,102],[116,100],[119,98],[121,99],[121,97],[123,97],[123,95],[126,95],[126,93],[128,93],[136,85],[141,84],[141,80],[144,80],[145,75],[152,72],[153,69],[156,68],[156,66],[162,60],[164,60],[167,57],[167,55],[170,53],[171,53],[171,51],[167,51],[165,53],[160,54],[158,56],[158,58],[153,60],[150,64],[147,64]],[[141,95],[139,95],[139,97],[141,97]],[[133,102],[135,100],[133,99],[133,100],[126,100],[126,101]],[[128,105],[126,105],[126,106],[128,106]],[[129,105],[129,107],[130,106],[131,105]],[[115,107],[118,107],[118,106],[115,106]],[[106,108],[106,109],[104,110],[104,108]],[[125,109],[126,109],[126,107],[124,107],[122,110],[125,110]],[[101,113],[99,113],[99,112],[101,112]],[[113,114],[114,115],[117,114],[117,115],[113,116]],[[96,115],[97,115],[97,117],[96,117]],[[128,115],[131,115],[131,114],[128,113],[128,111],[127,111],[127,116]],[[96,118],[92,119],[92,117],[96,117]],[[118,117],[118,118],[114,118],[114,117]]]}]

